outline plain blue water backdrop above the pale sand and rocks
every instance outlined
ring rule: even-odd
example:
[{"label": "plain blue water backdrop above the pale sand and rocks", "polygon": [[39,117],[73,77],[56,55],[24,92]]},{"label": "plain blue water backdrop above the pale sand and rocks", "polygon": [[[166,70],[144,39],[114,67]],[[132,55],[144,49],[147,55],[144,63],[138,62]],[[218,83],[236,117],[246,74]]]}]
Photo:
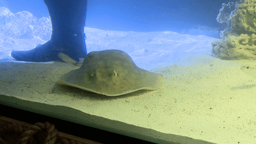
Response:
[{"label": "plain blue water backdrop above the pale sand and rocks", "polygon": [[[218,38],[227,27],[216,21],[222,3],[236,0],[88,0],[86,27],[116,31],[175,31]],[[49,17],[43,0],[0,0],[12,13],[28,11],[37,18]],[[199,26],[214,28],[204,31]],[[216,30],[217,29],[217,30]]]}]

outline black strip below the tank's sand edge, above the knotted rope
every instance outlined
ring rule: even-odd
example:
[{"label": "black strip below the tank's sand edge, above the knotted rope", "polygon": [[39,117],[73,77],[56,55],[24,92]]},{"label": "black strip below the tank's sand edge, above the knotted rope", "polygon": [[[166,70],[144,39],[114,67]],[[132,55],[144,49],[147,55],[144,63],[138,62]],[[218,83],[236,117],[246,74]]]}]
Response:
[{"label": "black strip below the tank's sand edge, above the knotted rope", "polygon": [[66,134],[70,134],[73,136],[97,141],[97,142],[104,143],[104,144],[107,144],[107,143],[111,143],[111,144],[114,144],[114,143],[117,143],[117,144],[120,144],[120,143],[152,144],[152,142],[115,134],[113,132],[96,129],[96,128],[72,123],[69,121],[45,116],[45,115],[40,115],[37,113],[32,113],[32,112],[28,112],[25,110],[9,107],[9,106],[5,106],[5,105],[0,105],[0,109],[1,109],[1,112],[0,112],[1,116],[16,119],[19,121],[24,121],[24,122],[30,123],[30,124],[35,124],[38,122],[44,123],[44,122],[48,121],[49,123],[54,124],[55,128],[58,131],[61,131],[61,132],[64,132]]}]

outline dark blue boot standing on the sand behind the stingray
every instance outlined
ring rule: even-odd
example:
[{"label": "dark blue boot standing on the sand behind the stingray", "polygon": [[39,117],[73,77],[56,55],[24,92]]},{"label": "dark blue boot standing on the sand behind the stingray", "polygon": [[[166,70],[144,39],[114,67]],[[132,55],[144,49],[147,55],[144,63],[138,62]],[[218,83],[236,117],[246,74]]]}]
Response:
[{"label": "dark blue boot standing on the sand behind the stingray", "polygon": [[79,62],[87,54],[84,36],[87,0],[44,0],[52,23],[51,39],[27,51],[12,51],[17,61],[61,61],[58,53]]}]

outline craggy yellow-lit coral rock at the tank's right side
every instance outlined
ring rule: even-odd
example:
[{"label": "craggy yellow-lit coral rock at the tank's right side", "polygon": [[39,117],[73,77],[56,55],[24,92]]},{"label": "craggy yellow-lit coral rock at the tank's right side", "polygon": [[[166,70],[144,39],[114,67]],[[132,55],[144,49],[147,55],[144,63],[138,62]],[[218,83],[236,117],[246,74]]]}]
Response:
[{"label": "craggy yellow-lit coral rock at the tank's right side", "polygon": [[241,0],[240,3],[223,4],[220,9],[217,20],[228,23],[228,27],[221,32],[221,40],[211,43],[215,57],[256,60],[256,0]]}]

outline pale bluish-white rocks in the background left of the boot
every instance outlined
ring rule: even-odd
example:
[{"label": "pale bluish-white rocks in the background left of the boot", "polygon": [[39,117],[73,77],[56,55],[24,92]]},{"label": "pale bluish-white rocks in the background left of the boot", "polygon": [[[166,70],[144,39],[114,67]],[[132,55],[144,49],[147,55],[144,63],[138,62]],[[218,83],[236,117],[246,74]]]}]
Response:
[{"label": "pale bluish-white rocks in the background left of the boot", "polygon": [[36,37],[47,41],[51,38],[51,31],[50,17],[37,19],[26,11],[13,14],[9,9],[0,7],[0,39]]}]

